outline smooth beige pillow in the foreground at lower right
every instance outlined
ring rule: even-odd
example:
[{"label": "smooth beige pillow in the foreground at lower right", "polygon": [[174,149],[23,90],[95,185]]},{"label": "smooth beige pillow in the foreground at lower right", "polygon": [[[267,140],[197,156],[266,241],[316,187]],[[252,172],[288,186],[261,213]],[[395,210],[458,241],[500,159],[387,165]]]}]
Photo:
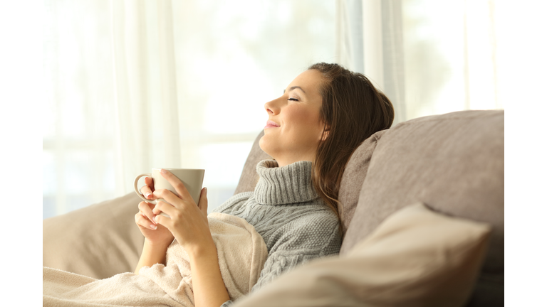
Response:
[{"label": "smooth beige pillow in the foreground at lower right", "polygon": [[246,306],[462,306],[490,227],[407,206],[340,257],[319,259],[234,303]]}]

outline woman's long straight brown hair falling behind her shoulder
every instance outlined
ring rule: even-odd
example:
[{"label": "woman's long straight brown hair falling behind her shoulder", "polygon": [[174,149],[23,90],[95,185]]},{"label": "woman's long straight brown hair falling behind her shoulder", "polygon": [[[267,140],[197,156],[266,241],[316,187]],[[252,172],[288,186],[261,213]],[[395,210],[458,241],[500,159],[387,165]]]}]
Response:
[{"label": "woman's long straight brown hair falling behind her shoulder", "polygon": [[313,64],[308,70],[318,70],[325,80],[319,90],[320,116],[325,124],[323,136],[328,131],[313,161],[313,188],[340,219],[338,190],[345,165],[365,139],[390,128],[395,110],[363,74],[327,63]]}]

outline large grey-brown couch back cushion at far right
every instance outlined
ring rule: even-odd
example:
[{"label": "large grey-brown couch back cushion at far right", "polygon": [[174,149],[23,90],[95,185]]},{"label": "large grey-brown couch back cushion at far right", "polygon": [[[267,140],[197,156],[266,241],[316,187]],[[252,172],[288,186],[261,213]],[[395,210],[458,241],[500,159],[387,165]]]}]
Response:
[{"label": "large grey-brown couch back cushion at far right", "polygon": [[370,235],[387,216],[419,201],[447,215],[492,225],[476,288],[490,290],[475,293],[474,301],[503,306],[503,110],[421,117],[386,131],[370,160],[340,254]]}]

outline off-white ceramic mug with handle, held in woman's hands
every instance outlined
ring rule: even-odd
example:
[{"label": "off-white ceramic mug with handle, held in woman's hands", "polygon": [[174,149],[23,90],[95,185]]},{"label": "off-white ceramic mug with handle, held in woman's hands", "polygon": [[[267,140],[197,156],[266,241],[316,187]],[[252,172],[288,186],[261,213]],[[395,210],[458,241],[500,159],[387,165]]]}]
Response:
[{"label": "off-white ceramic mug with handle, held in woman's hands", "polygon": [[[188,190],[188,193],[192,196],[192,199],[194,199],[194,202],[196,205],[199,203],[199,195],[202,192],[202,185],[203,185],[203,177],[205,175],[204,169],[195,169],[195,168],[152,168],[152,173],[143,173],[139,176],[135,177],[135,193],[139,195],[142,200],[147,201],[148,203],[156,204],[157,200],[162,200],[165,203],[168,203],[163,198],[158,198],[157,200],[149,200],[145,198],[145,195],[142,195],[140,193],[139,188],[137,187],[137,183],[139,179],[143,176],[147,176],[152,178],[152,181],[154,182],[154,189],[167,189],[170,190],[175,195],[180,196],[176,190],[174,190],[173,186],[167,179],[163,178],[160,171],[162,169],[165,169],[166,171],[170,171],[174,176],[180,179],[182,183],[184,184],[184,187]],[[165,214],[164,212],[161,212],[160,215],[164,215],[166,217],[169,217],[169,215]]]}]

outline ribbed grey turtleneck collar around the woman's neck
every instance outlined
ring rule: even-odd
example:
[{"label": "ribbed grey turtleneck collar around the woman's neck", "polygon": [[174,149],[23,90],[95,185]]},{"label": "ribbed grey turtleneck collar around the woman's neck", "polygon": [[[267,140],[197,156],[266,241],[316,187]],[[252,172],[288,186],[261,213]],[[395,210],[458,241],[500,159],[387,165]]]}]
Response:
[{"label": "ribbed grey turtleneck collar around the woman's neck", "polygon": [[279,167],[275,160],[263,160],[256,172],[260,179],[254,197],[262,205],[304,203],[319,197],[311,183],[311,161]]}]

